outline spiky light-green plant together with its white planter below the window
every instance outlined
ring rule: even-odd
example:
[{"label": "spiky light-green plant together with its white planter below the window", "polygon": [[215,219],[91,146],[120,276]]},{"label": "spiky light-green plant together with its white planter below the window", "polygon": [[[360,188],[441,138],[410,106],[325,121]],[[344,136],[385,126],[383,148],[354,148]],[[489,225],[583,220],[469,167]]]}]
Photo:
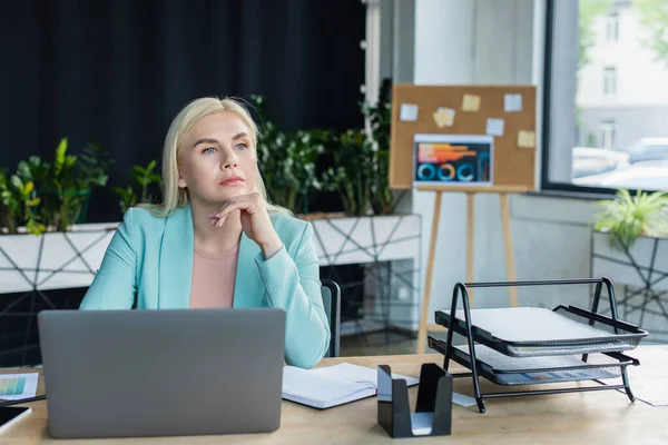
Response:
[{"label": "spiky light-green plant together with its white planter below the window", "polygon": [[668,290],[668,194],[626,189],[599,201],[591,236],[591,274],[655,295]]}]

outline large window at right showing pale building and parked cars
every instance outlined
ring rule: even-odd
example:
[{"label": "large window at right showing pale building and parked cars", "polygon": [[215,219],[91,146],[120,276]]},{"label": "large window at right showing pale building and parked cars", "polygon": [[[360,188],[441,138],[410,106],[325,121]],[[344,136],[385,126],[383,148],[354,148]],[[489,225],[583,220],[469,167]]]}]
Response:
[{"label": "large window at right showing pale building and parked cars", "polygon": [[668,55],[655,12],[547,0],[542,189],[668,190]]}]

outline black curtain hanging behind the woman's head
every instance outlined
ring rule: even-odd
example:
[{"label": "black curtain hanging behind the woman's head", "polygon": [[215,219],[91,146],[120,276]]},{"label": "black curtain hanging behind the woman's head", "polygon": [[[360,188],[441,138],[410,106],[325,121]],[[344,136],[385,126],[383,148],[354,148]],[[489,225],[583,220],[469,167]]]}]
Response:
[{"label": "black curtain hanging behind the woman's head", "polygon": [[[109,186],[159,159],[187,101],[264,95],[281,128],[360,128],[356,0],[50,0],[0,4],[0,168],[99,142]],[[87,221],[120,220],[95,189]]]}]

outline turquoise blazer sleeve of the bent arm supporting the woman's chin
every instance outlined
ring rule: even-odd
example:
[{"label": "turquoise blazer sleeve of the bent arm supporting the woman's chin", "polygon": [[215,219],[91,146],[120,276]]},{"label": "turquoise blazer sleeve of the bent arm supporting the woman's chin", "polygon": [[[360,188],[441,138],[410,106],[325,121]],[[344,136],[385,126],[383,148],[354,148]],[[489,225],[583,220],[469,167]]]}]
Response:
[{"label": "turquoise blazer sleeve of the bent arm supporting the woman's chin", "polygon": [[312,368],[330,345],[330,324],[323,305],[320,264],[313,241],[313,227],[306,224],[294,259],[285,246],[274,256],[255,258],[269,306],[286,312],[285,360]]}]

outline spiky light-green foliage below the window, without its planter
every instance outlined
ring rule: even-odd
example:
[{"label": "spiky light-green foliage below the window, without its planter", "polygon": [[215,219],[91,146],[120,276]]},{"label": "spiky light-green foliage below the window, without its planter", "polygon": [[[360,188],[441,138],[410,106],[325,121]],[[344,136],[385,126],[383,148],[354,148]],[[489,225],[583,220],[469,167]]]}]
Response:
[{"label": "spiky light-green foliage below the window, without its planter", "polygon": [[620,189],[612,200],[598,202],[595,229],[609,234],[610,246],[630,248],[641,236],[668,236],[668,192],[648,194],[639,190],[635,197]]}]

